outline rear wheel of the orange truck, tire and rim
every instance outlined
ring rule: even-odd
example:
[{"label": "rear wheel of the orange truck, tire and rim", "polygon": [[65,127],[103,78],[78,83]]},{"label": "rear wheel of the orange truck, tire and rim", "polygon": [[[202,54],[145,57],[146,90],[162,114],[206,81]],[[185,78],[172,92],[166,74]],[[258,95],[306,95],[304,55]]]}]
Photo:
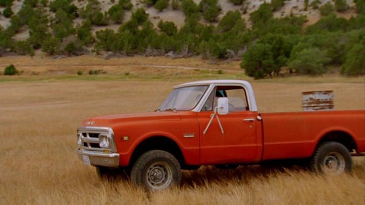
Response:
[{"label": "rear wheel of the orange truck, tire and rim", "polygon": [[340,175],[343,172],[351,172],[352,158],[343,144],[323,142],[315,151],[310,168],[320,174]]}]

